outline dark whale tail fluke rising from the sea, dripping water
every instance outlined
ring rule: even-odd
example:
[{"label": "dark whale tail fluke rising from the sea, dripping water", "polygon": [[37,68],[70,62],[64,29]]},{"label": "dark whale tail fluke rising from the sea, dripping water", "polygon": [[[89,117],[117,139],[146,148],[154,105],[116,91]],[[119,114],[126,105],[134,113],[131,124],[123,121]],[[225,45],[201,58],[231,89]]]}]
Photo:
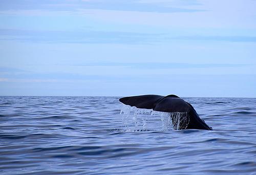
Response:
[{"label": "dark whale tail fluke rising from the sea, dripping water", "polygon": [[175,130],[212,130],[212,127],[199,117],[194,107],[177,95],[139,95],[123,97],[119,101],[137,108],[169,113]]}]

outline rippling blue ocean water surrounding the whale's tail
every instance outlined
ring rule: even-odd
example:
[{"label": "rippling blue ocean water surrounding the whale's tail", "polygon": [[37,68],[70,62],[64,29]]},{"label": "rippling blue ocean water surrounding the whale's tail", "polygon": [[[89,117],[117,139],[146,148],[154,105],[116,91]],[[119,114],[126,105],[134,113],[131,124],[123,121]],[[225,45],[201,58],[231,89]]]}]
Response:
[{"label": "rippling blue ocean water surrounding the whale's tail", "polygon": [[0,174],[256,174],[256,99],[183,98],[214,130],[118,97],[0,97]]}]

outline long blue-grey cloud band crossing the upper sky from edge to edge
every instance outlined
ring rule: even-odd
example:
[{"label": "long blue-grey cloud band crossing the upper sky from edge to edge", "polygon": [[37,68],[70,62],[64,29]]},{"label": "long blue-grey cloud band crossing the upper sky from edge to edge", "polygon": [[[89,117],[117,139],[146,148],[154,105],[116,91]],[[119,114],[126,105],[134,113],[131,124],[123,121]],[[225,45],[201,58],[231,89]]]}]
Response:
[{"label": "long blue-grey cloud band crossing the upper sky from edge to edge", "polygon": [[0,40],[66,43],[156,44],[172,40],[256,42],[256,36],[170,36],[167,33],[136,33],[110,31],[37,31],[0,29]]}]

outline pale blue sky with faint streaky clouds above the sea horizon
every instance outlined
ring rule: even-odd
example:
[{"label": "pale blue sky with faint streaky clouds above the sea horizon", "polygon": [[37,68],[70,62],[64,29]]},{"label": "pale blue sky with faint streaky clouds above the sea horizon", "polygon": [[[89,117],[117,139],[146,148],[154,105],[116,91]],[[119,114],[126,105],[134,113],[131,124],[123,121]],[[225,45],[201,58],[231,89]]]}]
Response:
[{"label": "pale blue sky with faint streaky clouds above the sea horizon", "polygon": [[1,96],[256,97],[255,0],[1,0]]}]

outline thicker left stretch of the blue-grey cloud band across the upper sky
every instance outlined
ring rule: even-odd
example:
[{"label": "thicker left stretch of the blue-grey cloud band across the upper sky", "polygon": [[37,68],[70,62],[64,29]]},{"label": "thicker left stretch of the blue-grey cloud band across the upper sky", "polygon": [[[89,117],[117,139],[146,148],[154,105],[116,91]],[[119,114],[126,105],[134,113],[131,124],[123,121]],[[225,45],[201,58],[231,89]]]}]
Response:
[{"label": "thicker left stretch of the blue-grey cloud band across the upper sky", "polygon": [[0,40],[66,43],[142,44],[161,41],[163,34],[106,31],[31,31],[0,29]]}]

